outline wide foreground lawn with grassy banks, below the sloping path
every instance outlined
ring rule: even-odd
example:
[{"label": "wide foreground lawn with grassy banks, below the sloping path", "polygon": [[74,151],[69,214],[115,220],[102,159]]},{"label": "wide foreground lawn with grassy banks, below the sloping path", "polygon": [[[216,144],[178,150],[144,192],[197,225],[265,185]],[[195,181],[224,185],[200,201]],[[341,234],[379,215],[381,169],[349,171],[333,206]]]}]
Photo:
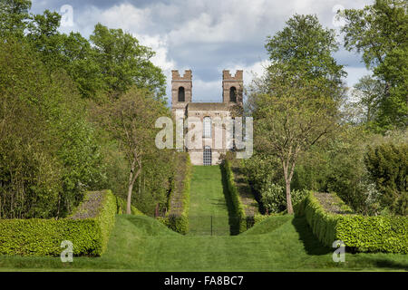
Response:
[{"label": "wide foreground lawn with grassy banks, below the sloping path", "polygon": [[116,218],[102,257],[0,256],[0,270],[21,271],[406,271],[406,255],[345,254],[334,263],[304,218],[267,218],[238,236],[182,236],[153,218]]}]

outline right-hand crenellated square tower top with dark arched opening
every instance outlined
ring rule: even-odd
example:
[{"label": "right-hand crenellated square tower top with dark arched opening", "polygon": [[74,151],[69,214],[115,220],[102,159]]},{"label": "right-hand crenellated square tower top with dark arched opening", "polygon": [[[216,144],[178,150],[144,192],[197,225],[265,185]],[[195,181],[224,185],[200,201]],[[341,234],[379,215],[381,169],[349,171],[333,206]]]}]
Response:
[{"label": "right-hand crenellated square tower top with dark arched opening", "polygon": [[222,71],[222,102],[242,103],[243,73],[238,70],[232,76],[228,70]]}]

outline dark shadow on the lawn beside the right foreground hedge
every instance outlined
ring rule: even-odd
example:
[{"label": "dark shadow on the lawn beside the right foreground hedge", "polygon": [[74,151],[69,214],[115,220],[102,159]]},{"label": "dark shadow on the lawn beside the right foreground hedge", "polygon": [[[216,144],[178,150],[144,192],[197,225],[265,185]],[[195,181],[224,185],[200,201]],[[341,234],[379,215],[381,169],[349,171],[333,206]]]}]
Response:
[{"label": "dark shadow on the lawn beside the right foreground hedge", "polygon": [[321,256],[333,252],[330,247],[325,247],[319,242],[307,224],[306,218],[294,218],[292,225],[296,228],[299,239],[302,240],[308,255]]}]

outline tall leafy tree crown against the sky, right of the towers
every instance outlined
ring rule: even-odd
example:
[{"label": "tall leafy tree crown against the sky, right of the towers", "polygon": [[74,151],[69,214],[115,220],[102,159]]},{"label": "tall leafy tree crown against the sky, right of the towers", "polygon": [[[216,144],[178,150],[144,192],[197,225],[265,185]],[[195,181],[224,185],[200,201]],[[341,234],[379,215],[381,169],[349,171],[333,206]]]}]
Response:
[{"label": "tall leafy tree crown against the sky, right of the towers", "polygon": [[335,31],[323,27],[316,15],[295,14],[282,31],[267,37],[265,46],[271,65],[280,66],[286,73],[320,79],[335,90],[346,75],[343,65],[331,55],[338,50]]}]

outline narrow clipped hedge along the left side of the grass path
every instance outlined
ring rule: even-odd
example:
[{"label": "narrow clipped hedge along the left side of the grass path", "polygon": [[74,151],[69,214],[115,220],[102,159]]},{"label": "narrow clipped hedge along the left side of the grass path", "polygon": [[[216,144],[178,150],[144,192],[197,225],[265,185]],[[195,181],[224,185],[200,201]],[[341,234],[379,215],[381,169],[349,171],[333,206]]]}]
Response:
[{"label": "narrow clipped hedge along the left side of the grass path", "polygon": [[[158,218],[158,220],[160,220],[160,222],[162,222],[164,225],[166,225],[167,227],[170,227],[172,230],[182,235],[186,235],[189,232],[189,187],[190,187],[190,182],[191,182],[191,161],[189,160],[189,154],[188,153],[184,153],[184,154],[186,157],[186,161],[184,164],[181,164],[181,166],[185,167],[185,175],[182,181],[182,191],[180,192],[180,195],[182,197],[182,208],[183,209],[180,214],[172,214],[171,208],[169,206],[169,211],[167,212],[166,217]],[[179,160],[179,162],[181,162],[181,160]],[[180,190],[180,189],[178,189],[177,187],[177,182],[174,182],[172,194],[174,194],[176,190]],[[171,198],[171,195],[170,195],[170,198]],[[170,202],[169,202],[169,205],[170,205]]]}]

